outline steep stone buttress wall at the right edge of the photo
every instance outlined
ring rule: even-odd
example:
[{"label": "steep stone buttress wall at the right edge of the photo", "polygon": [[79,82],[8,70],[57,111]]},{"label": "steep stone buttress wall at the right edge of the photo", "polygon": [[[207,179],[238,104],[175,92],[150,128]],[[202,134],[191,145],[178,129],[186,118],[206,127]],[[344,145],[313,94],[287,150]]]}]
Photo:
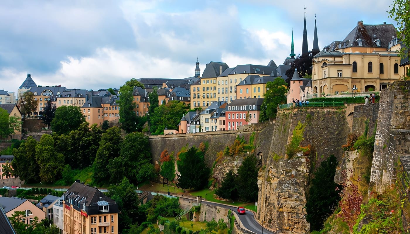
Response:
[{"label": "steep stone buttress wall at the right edge of the photo", "polygon": [[410,153],[410,81],[397,81],[380,92],[371,185],[378,191],[394,182],[394,162]]}]

